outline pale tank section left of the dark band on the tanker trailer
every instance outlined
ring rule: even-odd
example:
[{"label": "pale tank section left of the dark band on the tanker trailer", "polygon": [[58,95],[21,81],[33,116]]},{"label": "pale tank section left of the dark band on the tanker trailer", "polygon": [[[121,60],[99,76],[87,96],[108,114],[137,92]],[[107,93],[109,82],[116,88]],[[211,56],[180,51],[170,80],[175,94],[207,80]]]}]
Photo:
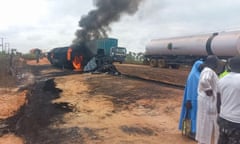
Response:
[{"label": "pale tank section left of the dark band on the tanker trailer", "polygon": [[207,55],[209,37],[211,34],[152,40],[145,55]]}]

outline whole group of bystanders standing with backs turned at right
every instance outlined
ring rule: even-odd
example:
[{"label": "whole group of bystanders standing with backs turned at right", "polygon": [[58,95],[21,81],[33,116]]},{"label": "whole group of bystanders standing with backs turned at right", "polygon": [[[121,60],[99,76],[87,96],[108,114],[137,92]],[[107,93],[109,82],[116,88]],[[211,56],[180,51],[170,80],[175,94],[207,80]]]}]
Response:
[{"label": "whole group of bystanders standing with backs turned at right", "polygon": [[240,144],[240,56],[224,65],[215,55],[194,63],[179,129],[198,144]]}]

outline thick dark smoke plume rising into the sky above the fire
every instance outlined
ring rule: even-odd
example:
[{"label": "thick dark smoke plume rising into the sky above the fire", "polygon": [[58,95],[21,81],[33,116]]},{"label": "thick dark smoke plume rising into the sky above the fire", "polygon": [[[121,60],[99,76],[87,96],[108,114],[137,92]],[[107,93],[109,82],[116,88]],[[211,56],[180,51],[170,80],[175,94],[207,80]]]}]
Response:
[{"label": "thick dark smoke plume rising into the sky above the fire", "polygon": [[110,24],[118,21],[123,14],[133,15],[143,0],[94,0],[95,10],[81,18],[76,32],[75,45],[82,42],[107,37]]}]

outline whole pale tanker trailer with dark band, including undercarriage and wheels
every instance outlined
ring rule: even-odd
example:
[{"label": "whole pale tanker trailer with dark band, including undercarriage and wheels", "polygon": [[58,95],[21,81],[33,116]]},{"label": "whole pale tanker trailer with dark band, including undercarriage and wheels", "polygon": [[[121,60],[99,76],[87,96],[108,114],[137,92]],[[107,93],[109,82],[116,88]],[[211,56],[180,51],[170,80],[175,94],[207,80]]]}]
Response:
[{"label": "whole pale tanker trailer with dark band, including undercarriage and wheels", "polygon": [[178,68],[212,54],[222,59],[240,55],[240,31],[156,39],[145,50],[146,61],[153,67]]}]

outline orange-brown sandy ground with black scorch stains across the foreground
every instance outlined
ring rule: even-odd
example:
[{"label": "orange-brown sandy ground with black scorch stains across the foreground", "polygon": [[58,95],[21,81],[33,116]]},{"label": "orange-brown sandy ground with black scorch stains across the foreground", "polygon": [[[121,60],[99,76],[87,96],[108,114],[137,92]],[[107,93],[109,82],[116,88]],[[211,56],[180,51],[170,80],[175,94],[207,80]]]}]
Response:
[{"label": "orange-brown sandy ground with black scorch stains across the foreground", "polygon": [[[57,69],[46,59],[27,64],[35,82],[25,88],[23,110],[9,115],[13,130],[0,143],[22,138],[19,144],[196,144],[178,130],[183,90],[124,76]],[[117,66],[121,73],[179,85],[188,74],[185,69],[132,67]]]}]

